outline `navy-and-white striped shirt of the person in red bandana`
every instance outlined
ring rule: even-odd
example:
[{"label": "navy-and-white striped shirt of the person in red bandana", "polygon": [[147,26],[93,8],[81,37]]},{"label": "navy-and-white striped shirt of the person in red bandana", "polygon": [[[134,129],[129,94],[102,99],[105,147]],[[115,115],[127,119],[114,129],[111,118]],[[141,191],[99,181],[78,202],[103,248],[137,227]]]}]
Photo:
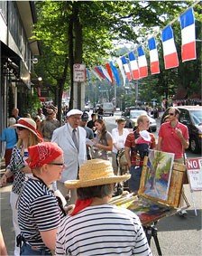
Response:
[{"label": "navy-and-white striped shirt of the person in red bandana", "polygon": [[62,217],[57,199],[47,185],[35,178],[24,183],[18,203],[18,222],[26,242],[49,251],[40,232],[56,229]]}]

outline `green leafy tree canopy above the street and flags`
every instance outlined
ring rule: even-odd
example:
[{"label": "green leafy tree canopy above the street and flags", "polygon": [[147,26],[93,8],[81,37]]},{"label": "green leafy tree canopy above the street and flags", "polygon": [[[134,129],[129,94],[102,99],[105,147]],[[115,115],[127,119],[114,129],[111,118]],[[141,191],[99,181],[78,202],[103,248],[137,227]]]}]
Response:
[{"label": "green leafy tree canopy above the street and flags", "polygon": [[[38,1],[35,33],[36,39],[41,41],[43,52],[37,72],[43,77],[44,84],[58,95],[55,102],[60,108],[64,89],[71,88],[73,98],[74,63],[83,62],[87,67],[105,63],[117,54],[115,43],[123,40],[134,44],[144,42],[157,26],[159,29],[163,28],[192,3],[193,1]],[[198,7],[197,9],[199,10]],[[177,32],[179,33],[179,28]],[[194,64],[188,65],[188,69],[190,66],[196,69]],[[166,93],[166,83],[174,90],[181,83],[178,80],[183,69],[179,67],[179,71],[164,71],[161,68],[161,74],[144,79],[146,87],[145,90],[142,88],[142,96],[145,100],[151,96],[147,92],[148,88],[150,92],[152,88],[155,95],[163,95]],[[197,87],[196,84],[198,81],[193,82],[193,88]],[[186,86],[190,86],[190,83]]]}]

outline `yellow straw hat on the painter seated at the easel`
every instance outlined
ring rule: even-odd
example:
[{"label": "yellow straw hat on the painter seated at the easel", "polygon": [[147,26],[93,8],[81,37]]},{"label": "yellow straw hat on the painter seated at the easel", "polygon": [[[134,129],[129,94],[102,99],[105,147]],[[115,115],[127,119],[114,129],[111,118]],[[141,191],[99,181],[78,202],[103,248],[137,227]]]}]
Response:
[{"label": "yellow straw hat on the painter seated at the easel", "polygon": [[110,161],[93,159],[80,166],[79,180],[68,180],[65,185],[68,188],[106,185],[128,180],[130,177],[131,175],[114,175]]}]

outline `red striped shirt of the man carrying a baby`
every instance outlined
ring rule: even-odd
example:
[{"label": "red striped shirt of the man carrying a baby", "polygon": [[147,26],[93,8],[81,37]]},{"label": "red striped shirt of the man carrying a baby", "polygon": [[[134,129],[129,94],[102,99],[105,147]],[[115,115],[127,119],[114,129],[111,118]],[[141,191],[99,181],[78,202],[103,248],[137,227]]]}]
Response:
[{"label": "red striped shirt of the man carrying a baby", "polygon": [[[139,134],[139,129],[136,130],[136,135],[137,137],[140,137],[140,134]],[[156,147],[156,141],[155,141],[155,137],[153,136],[152,133],[150,133],[150,137],[151,137],[151,141],[147,141],[146,144],[149,144],[150,145],[150,148],[155,148]],[[135,137],[134,137],[134,133],[133,132],[130,132],[129,135],[126,137],[126,140],[125,140],[125,143],[124,143],[124,147],[130,147],[131,149],[133,147],[135,147]],[[132,165],[140,165],[142,166],[143,164],[143,158],[141,158],[141,162],[137,162],[136,161],[136,156],[137,156],[137,153],[134,152],[133,150],[131,150],[131,164]]]}]

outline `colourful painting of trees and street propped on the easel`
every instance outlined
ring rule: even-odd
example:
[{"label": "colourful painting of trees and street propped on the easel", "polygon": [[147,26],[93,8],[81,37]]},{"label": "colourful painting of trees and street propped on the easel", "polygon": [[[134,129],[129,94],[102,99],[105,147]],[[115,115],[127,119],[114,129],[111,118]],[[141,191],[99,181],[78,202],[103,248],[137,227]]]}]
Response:
[{"label": "colourful painting of trees and street propped on the easel", "polygon": [[147,168],[141,179],[139,194],[167,201],[174,154],[150,150]]}]

